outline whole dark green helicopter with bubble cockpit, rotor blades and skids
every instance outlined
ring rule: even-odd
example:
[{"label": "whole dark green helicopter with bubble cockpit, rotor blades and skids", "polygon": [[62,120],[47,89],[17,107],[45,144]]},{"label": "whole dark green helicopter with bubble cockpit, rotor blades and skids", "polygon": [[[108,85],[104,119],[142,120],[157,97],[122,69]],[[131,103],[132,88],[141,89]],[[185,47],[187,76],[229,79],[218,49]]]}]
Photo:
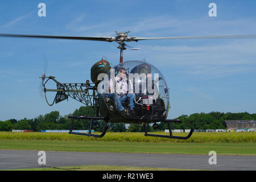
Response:
[{"label": "whole dark green helicopter with bubble cockpit, rotor blades and skids", "polygon": [[[187,137],[172,135],[171,122],[182,121],[180,119],[167,119],[170,107],[169,92],[166,80],[162,73],[154,65],[146,61],[125,61],[123,62],[123,50],[126,49],[125,42],[138,42],[139,40],[154,39],[250,39],[256,35],[221,35],[221,36],[180,36],[162,38],[138,38],[130,37],[128,32],[117,32],[117,36],[106,37],[83,37],[83,36],[51,36],[51,35],[22,35],[22,34],[0,34],[3,37],[18,38],[46,38],[46,39],[73,39],[73,40],[95,40],[104,42],[117,42],[120,49],[119,64],[113,68],[105,57],[97,61],[90,69],[90,78],[93,83],[86,80],[85,83],[61,83],[53,76],[46,76],[44,73],[42,86],[44,96],[46,92],[56,92],[54,102],[57,104],[71,97],[82,104],[92,106],[96,110],[96,116],[69,115],[71,127],[69,134],[85,135],[92,137],[104,137],[110,122],[139,123],[143,124],[145,136],[164,137],[175,139],[188,139],[193,133],[190,130]],[[138,48],[131,48],[138,49]],[[47,89],[46,83],[49,80],[56,82],[56,89]],[[73,132],[74,119],[90,119],[89,133]],[[106,126],[102,134],[92,134],[92,123],[96,119],[102,119]],[[157,122],[167,122],[170,135],[148,134],[149,123],[154,123],[152,127],[158,128]]]}]

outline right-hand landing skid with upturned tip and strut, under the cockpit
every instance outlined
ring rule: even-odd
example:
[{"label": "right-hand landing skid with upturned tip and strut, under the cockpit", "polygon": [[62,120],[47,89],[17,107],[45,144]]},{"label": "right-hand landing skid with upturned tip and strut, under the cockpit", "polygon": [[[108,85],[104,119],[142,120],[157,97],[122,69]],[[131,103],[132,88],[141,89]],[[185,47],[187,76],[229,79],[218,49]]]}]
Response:
[{"label": "right-hand landing skid with upturned tip and strut, under the cockpit", "polygon": [[169,133],[170,135],[155,135],[155,134],[148,134],[147,133],[147,127],[146,124],[144,124],[144,131],[145,131],[145,136],[146,137],[162,137],[162,138],[174,138],[174,139],[188,139],[189,137],[191,137],[194,129],[192,128],[189,132],[189,134],[187,135],[187,137],[179,137],[179,136],[174,136],[172,135],[172,130],[171,130],[171,122],[175,122],[175,123],[181,123],[182,121],[180,119],[166,119],[164,120],[164,122],[168,123],[168,129],[169,129]]}]

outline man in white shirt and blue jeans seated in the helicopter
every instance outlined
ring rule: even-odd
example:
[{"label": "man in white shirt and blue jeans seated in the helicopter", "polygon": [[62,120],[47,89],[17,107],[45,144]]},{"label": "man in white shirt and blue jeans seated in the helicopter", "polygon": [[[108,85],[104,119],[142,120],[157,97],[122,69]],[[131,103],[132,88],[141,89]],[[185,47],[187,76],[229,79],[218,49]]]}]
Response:
[{"label": "man in white shirt and blue jeans seated in the helicopter", "polygon": [[[113,81],[109,81],[109,88],[110,88],[110,98],[114,101],[114,86]],[[121,104],[121,102],[126,102],[128,99],[130,99],[130,113],[135,114],[134,111],[134,99],[135,94],[134,93],[128,93],[128,85],[127,85],[127,79],[126,79],[126,71],[125,68],[120,68],[118,70],[117,76],[115,76],[115,91],[116,91],[116,102],[117,102],[117,108],[120,111],[121,114],[129,114]]]}]

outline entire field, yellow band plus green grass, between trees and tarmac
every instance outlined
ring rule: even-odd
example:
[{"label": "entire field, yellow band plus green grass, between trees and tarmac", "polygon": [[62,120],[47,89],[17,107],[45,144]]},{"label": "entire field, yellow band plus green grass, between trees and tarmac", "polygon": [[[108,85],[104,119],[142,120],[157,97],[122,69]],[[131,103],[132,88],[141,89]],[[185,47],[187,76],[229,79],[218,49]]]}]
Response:
[{"label": "entire field, yellow band plus green grass, between trees and tarmac", "polygon": [[0,149],[203,155],[213,150],[218,155],[256,155],[256,133],[194,133],[188,140],[177,140],[144,137],[143,133],[106,133],[103,138],[94,138],[67,133],[0,132]]}]

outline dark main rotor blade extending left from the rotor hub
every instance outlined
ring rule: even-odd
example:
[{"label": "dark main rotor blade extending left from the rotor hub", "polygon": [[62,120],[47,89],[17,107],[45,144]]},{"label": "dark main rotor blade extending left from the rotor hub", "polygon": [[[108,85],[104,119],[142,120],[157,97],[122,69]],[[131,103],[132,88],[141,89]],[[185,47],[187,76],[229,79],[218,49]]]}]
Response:
[{"label": "dark main rotor blade extending left from the rotor hub", "polygon": [[19,37],[19,38],[44,38],[44,39],[72,39],[72,40],[97,40],[112,42],[114,37],[84,37],[84,36],[54,36],[54,35],[24,35],[24,34],[0,34],[5,37]]}]

